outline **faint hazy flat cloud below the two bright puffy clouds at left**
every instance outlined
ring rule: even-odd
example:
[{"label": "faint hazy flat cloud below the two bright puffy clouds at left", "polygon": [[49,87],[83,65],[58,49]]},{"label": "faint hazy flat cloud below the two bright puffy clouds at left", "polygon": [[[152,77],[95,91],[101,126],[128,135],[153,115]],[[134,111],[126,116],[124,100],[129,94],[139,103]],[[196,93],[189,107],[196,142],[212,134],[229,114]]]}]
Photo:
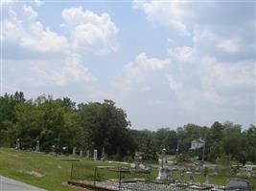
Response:
[{"label": "faint hazy flat cloud below the two bright puffy clouds at left", "polygon": [[[18,69],[19,83],[26,87],[58,87],[68,84],[84,86],[97,81],[82,62],[81,55],[69,54],[63,59],[42,60],[5,60],[5,63]],[[53,64],[54,63],[54,64]],[[12,70],[12,69],[9,69]]]}]

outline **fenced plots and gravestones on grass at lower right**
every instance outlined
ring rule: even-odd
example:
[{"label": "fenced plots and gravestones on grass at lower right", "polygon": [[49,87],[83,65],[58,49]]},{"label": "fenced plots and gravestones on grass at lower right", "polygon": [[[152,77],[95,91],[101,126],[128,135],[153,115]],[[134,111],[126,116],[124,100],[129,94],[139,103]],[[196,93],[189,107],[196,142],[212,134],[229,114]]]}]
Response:
[{"label": "fenced plots and gravestones on grass at lower right", "polygon": [[[71,177],[68,183],[93,190],[109,191],[253,190],[249,178],[256,178],[256,176],[252,171],[244,172],[244,177],[241,176],[243,179],[231,178],[229,175],[229,181],[225,185],[217,185],[210,183],[211,179],[226,179],[221,171],[228,174],[231,172],[230,168],[204,167],[202,163],[184,165],[174,161],[168,162],[165,152],[164,148],[158,168],[156,164],[145,166],[142,163],[121,162],[119,166],[94,166],[94,169],[89,170],[88,166],[82,162],[75,162],[72,163]],[[93,160],[97,160],[96,153],[95,149]],[[88,174],[88,171],[91,174]]]}]

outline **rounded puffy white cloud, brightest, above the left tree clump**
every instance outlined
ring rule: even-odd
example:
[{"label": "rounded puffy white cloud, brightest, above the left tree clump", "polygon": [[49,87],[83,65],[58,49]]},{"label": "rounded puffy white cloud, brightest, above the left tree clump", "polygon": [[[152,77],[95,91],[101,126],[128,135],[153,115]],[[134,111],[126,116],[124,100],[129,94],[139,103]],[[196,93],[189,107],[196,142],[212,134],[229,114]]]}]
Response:
[{"label": "rounded puffy white cloud, brightest, above the left tree clump", "polygon": [[115,36],[119,29],[107,13],[98,15],[81,7],[62,11],[64,23],[70,32],[72,49],[79,53],[103,55],[117,51]]}]

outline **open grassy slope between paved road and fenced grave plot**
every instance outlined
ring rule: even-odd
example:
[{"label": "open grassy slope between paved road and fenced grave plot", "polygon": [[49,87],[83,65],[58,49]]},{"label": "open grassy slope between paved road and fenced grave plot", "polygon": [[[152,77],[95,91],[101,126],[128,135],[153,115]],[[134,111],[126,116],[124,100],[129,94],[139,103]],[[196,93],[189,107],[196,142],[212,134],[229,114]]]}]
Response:
[{"label": "open grassy slope between paved road and fenced grave plot", "polygon": [[[41,153],[0,148],[0,175],[21,180],[49,191],[81,190],[65,184],[72,161]],[[98,165],[90,161],[92,165]]]}]

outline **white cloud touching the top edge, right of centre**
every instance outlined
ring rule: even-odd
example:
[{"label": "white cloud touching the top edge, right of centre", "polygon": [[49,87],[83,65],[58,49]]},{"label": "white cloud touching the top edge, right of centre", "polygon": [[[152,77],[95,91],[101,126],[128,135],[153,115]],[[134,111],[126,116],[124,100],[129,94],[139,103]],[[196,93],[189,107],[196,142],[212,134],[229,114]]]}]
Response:
[{"label": "white cloud touching the top edge, right of centre", "polygon": [[144,11],[151,22],[170,26],[180,34],[190,35],[183,21],[186,12],[183,10],[184,4],[184,2],[133,1],[133,7]]}]

